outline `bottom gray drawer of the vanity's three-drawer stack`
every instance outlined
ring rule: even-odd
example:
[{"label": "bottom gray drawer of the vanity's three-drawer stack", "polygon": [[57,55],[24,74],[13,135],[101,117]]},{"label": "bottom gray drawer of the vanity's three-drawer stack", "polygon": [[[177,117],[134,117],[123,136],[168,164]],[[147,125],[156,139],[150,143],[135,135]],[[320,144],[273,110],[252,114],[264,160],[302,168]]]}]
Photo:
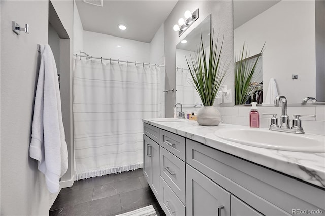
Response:
[{"label": "bottom gray drawer of the vanity's three-drawer stack", "polygon": [[166,215],[185,216],[185,206],[160,176],[160,206]]}]

